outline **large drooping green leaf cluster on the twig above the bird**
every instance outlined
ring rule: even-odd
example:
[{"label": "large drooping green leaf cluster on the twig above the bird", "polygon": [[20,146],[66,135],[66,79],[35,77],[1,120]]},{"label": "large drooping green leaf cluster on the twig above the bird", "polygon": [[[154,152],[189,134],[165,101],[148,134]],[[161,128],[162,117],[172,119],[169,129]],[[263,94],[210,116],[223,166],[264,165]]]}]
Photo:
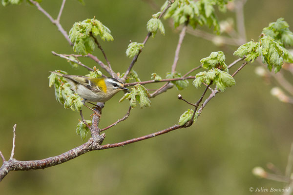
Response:
[{"label": "large drooping green leaf cluster on the twig above the bird", "polygon": [[114,40],[111,31],[96,19],[86,19],[75,22],[69,31],[69,39],[73,43],[73,50],[81,55],[92,53],[95,49],[94,40],[91,37],[100,37],[102,40]]}]

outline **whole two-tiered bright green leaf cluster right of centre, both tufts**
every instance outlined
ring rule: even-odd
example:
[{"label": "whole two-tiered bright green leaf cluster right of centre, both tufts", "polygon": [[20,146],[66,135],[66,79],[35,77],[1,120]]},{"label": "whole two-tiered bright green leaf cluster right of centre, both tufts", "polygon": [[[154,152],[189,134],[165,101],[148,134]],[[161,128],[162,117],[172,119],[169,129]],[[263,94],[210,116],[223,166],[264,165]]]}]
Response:
[{"label": "whole two-tiered bright green leaf cluster right of centre, both tufts", "polygon": [[199,72],[192,84],[198,88],[201,83],[216,84],[217,88],[225,91],[227,87],[235,85],[235,79],[228,73],[225,55],[222,51],[212,52],[209,57],[201,59],[202,67],[208,71]]}]

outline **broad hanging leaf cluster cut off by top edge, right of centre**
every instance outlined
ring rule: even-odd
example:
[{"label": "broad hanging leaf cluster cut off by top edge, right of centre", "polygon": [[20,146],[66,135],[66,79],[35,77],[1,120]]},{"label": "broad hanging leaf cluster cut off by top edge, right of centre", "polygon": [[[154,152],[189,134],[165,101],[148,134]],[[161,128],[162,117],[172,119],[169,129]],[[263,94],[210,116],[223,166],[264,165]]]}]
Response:
[{"label": "broad hanging leaf cluster cut off by top edge, right of centre", "polygon": [[[220,27],[215,15],[214,5],[219,5],[224,10],[229,0],[175,0],[171,7],[167,10],[164,19],[172,18],[174,27],[188,22],[190,26],[196,28],[197,25],[213,26],[214,31],[218,32]],[[163,10],[167,6],[167,1],[162,6]]]}]

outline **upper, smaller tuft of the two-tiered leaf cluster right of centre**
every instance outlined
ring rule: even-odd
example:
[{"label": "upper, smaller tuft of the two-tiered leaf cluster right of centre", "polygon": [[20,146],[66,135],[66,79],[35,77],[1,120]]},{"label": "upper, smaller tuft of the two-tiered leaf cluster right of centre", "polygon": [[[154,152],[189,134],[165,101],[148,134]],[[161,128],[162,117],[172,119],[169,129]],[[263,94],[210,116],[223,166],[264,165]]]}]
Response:
[{"label": "upper, smaller tuft of the two-tiered leaf cluster right of centre", "polygon": [[220,69],[229,72],[228,66],[225,63],[225,55],[222,51],[211,52],[209,57],[200,60],[202,67],[207,70]]}]

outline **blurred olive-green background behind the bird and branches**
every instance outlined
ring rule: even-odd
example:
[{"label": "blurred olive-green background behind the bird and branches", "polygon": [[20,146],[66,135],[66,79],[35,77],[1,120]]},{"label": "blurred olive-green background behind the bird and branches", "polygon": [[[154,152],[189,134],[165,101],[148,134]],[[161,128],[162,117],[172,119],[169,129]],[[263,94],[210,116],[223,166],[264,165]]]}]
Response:
[{"label": "blurred olive-green background behind the bird and branches", "polygon": [[[54,18],[61,0],[43,0],[41,5]],[[163,0],[156,1],[158,5]],[[248,0],[245,18],[248,39],[258,39],[263,27],[285,18],[293,30],[292,0]],[[124,72],[131,59],[125,51],[129,40],[142,42],[146,22],[156,13],[143,0],[67,0],[61,23],[68,32],[75,21],[101,20],[114,37],[101,44],[117,72]],[[234,14],[228,12],[229,17]],[[220,19],[227,15],[219,14]],[[74,70],[57,53],[73,53],[62,34],[35,6],[0,6],[0,150],[8,159],[12,127],[17,123],[15,158],[35,160],[56,156],[84,143],[75,133],[79,113],[64,109],[48,87],[48,71]],[[142,80],[153,72],[165,77],[170,71],[178,32],[163,21],[166,36],[149,39],[134,66]],[[227,63],[236,48],[224,50]],[[178,72],[199,65],[210,52],[223,50],[211,42],[187,35],[180,52]],[[103,59],[101,53],[94,52]],[[95,66],[90,59],[82,59]],[[282,183],[256,178],[255,166],[272,162],[284,172],[292,143],[293,107],[270,95],[272,85],[254,74],[258,64],[247,65],[237,76],[236,86],[212,99],[196,124],[166,135],[125,147],[94,151],[44,170],[10,172],[0,183],[1,195],[51,194],[202,194],[251,195],[249,188],[282,188]],[[238,64],[239,66],[239,64]],[[235,70],[233,68],[232,71]],[[291,79],[292,81],[292,79]],[[161,84],[150,84],[157,88]],[[115,143],[165,129],[178,122],[188,106],[177,99],[180,93],[195,102],[203,88],[169,90],[151,99],[150,108],[132,110],[130,117],[106,131],[104,144]],[[118,103],[119,93],[105,104],[100,127],[123,117],[128,102]],[[84,109],[89,119],[90,111]],[[88,137],[87,137],[88,138]],[[274,193],[270,193],[274,194]],[[276,193],[278,194],[278,193]]]}]

